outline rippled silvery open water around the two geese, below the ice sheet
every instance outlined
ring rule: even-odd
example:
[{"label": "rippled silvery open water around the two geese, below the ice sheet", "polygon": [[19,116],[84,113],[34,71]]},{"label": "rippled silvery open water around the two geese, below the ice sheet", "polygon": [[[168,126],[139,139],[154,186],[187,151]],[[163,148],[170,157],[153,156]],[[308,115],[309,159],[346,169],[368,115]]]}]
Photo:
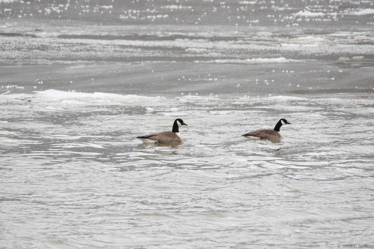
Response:
[{"label": "rippled silvery open water around the two geese, below the ice sheet", "polygon": [[[372,241],[371,99],[50,94],[1,105],[3,248]],[[183,146],[135,138],[176,116]],[[240,136],[279,117],[281,141]]]}]

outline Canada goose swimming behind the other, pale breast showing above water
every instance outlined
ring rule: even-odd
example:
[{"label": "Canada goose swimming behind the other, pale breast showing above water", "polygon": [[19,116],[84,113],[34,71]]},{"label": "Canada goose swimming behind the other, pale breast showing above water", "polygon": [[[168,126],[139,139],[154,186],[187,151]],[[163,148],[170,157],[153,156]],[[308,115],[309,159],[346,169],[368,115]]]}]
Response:
[{"label": "Canada goose swimming behind the other, pale breast showing above water", "polygon": [[140,136],[143,143],[183,144],[183,137],[179,133],[179,127],[187,125],[182,119],[177,118],[173,124],[172,131],[161,131],[146,136]]}]

